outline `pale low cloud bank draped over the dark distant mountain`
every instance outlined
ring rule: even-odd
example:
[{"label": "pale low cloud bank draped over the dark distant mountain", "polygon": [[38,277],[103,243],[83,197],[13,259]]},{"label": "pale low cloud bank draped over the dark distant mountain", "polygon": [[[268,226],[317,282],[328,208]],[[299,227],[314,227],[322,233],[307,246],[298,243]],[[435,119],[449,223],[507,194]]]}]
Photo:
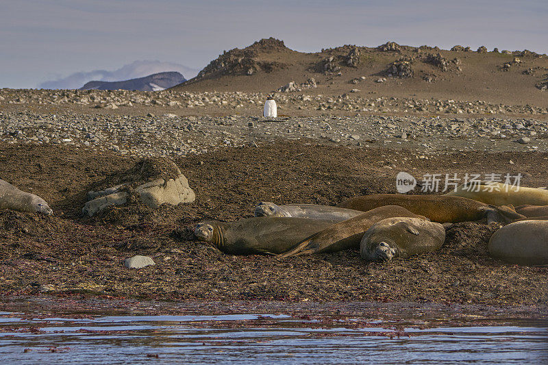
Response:
[{"label": "pale low cloud bank draped over the dark distant mountain", "polygon": [[183,77],[190,79],[197,75],[199,70],[186,67],[182,64],[160,61],[135,61],[126,64],[114,71],[94,70],[73,73],[66,77],[59,76],[57,79],[45,81],[38,85],[42,89],[77,89],[88,81],[121,81],[145,77],[154,73],[176,71],[182,73]]}]

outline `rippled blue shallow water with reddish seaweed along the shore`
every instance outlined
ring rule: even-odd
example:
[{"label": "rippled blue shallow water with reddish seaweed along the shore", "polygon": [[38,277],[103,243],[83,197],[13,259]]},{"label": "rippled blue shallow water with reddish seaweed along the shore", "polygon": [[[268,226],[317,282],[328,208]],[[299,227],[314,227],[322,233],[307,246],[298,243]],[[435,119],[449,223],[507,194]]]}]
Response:
[{"label": "rippled blue shallow water with reddish seaweed along the shore", "polygon": [[0,358],[18,364],[547,364],[548,324],[395,329],[281,314],[33,318],[0,312]]}]

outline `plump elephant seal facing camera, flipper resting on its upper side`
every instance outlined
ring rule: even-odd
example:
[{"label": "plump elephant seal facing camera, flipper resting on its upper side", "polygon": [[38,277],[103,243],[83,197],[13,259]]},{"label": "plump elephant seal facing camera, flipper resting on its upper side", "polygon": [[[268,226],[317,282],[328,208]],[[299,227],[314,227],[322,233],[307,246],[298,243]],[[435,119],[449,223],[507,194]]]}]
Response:
[{"label": "plump elephant seal facing camera, flipper resting on its upper side", "polygon": [[390,261],[436,251],[445,241],[440,223],[419,218],[387,218],[369,228],[360,242],[360,255],[367,261]]}]

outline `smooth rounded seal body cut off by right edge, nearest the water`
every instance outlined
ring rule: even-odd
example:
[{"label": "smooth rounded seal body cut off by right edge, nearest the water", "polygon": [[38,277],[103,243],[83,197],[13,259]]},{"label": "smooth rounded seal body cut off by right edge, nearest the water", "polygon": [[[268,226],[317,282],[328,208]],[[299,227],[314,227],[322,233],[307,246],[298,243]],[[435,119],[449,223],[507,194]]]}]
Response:
[{"label": "smooth rounded seal body cut off by right edge, nearest the water", "polygon": [[493,234],[489,254],[510,264],[548,264],[548,221],[521,221],[506,225]]}]

